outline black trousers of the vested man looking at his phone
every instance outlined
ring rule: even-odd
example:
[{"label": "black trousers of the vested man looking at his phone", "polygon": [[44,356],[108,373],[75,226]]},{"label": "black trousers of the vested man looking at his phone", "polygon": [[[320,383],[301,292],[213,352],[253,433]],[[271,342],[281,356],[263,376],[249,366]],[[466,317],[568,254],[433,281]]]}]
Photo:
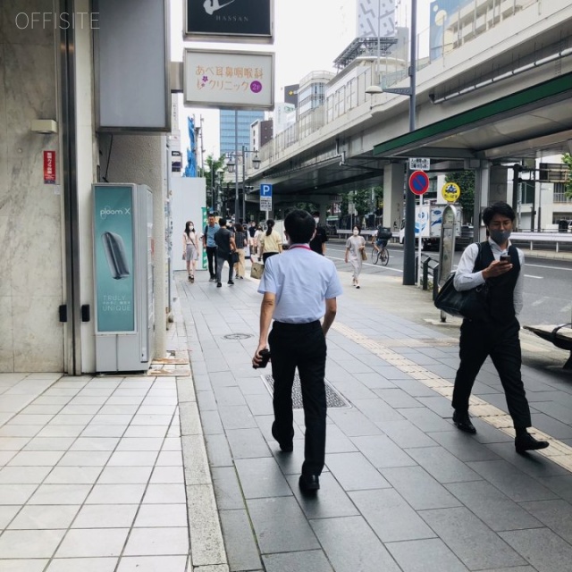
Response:
[{"label": "black trousers of the vested man looking at his phone", "polygon": [[467,411],[468,399],[475,383],[475,377],[490,356],[504,389],[509,414],[517,428],[530,427],[530,408],[526,400],[520,366],[522,363],[517,318],[509,323],[478,322],[463,320],[458,366],[453,390],[452,405],[459,411]]}]

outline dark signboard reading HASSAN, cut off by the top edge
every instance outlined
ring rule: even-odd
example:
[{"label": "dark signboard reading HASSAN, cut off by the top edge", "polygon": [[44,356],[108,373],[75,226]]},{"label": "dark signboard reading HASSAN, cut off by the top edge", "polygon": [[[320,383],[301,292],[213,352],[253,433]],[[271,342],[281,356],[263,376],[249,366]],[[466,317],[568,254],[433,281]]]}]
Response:
[{"label": "dark signboard reading HASSAN, cut off by the top edge", "polygon": [[185,0],[185,38],[273,43],[273,0]]}]

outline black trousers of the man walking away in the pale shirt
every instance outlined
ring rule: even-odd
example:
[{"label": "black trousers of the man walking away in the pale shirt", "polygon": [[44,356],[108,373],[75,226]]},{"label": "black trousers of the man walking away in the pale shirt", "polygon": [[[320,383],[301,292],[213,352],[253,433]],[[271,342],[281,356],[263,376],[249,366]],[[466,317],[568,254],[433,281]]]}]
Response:
[{"label": "black trousers of the man walking away in the pale shirt", "polygon": [[309,324],[274,322],[268,336],[274,379],[273,431],[279,441],[294,434],[292,384],[298,367],[304,402],[304,464],[302,473],[320,475],[325,455],[325,336],[319,321]]}]

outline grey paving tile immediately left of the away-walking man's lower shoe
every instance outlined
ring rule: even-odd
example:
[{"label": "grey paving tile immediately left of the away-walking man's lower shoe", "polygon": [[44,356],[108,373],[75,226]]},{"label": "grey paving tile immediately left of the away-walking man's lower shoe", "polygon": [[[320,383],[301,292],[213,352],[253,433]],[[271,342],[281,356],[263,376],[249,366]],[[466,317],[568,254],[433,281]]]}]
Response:
[{"label": "grey paving tile immediately left of the away-walking man's lower shoe", "polygon": [[274,458],[237,458],[236,470],[245,499],[290,496],[290,486]]}]

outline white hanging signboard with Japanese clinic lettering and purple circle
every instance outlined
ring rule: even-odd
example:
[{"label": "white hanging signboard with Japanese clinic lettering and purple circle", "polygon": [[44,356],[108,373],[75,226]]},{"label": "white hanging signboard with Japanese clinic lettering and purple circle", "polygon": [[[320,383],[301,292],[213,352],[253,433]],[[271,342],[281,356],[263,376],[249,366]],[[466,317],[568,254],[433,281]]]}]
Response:
[{"label": "white hanging signboard with Japanese clinic lettering and purple circle", "polygon": [[183,55],[184,105],[273,109],[274,55],[187,48]]}]

